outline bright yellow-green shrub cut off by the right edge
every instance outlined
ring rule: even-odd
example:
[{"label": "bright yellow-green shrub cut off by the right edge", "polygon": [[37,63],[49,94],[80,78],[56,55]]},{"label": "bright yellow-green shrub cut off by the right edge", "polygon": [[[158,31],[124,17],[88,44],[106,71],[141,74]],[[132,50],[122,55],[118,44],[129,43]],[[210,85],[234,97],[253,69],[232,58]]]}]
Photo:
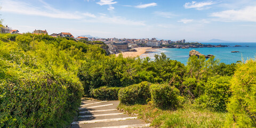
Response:
[{"label": "bright yellow-green shrub cut off by the right edge", "polygon": [[230,88],[227,127],[256,127],[256,60],[238,64]]}]

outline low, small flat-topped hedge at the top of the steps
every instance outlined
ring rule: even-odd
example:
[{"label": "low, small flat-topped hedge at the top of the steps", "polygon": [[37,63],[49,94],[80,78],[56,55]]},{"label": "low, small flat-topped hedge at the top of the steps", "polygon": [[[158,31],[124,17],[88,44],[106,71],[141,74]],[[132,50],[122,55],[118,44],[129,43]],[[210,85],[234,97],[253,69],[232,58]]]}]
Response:
[{"label": "low, small flat-topped hedge at the top of the steps", "polygon": [[102,86],[98,89],[94,89],[91,91],[91,95],[94,98],[100,100],[118,100],[118,91],[121,87],[107,87]]}]

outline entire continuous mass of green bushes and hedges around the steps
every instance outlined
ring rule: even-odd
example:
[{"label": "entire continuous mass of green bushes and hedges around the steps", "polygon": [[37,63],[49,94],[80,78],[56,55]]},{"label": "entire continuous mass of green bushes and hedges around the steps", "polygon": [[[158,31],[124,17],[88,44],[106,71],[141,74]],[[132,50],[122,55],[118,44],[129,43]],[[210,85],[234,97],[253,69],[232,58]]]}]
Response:
[{"label": "entire continuous mass of green bushes and hedges around the steps", "polygon": [[0,34],[0,126],[65,127],[82,90],[108,100],[116,100],[119,92],[126,104],[151,99],[164,109],[176,108],[186,97],[217,111],[226,110],[233,94],[227,126],[256,126],[255,61],[226,65],[214,58],[190,57],[185,67],[163,53],[153,61],[107,56],[102,46],[107,47],[48,35]]}]

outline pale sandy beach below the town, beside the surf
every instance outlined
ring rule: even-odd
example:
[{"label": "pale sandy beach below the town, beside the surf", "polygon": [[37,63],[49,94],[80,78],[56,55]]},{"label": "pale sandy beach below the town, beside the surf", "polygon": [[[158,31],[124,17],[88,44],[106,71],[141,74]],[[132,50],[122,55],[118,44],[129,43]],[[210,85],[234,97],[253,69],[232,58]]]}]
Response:
[{"label": "pale sandy beach below the town, beside the surf", "polygon": [[[156,48],[152,48],[152,47],[134,47],[133,49],[137,50],[137,52],[122,52],[123,57],[127,58],[127,57],[137,57],[142,55],[143,53],[147,52],[154,52]],[[118,53],[120,54],[120,53]],[[118,54],[116,54],[116,56],[118,56]]]}]

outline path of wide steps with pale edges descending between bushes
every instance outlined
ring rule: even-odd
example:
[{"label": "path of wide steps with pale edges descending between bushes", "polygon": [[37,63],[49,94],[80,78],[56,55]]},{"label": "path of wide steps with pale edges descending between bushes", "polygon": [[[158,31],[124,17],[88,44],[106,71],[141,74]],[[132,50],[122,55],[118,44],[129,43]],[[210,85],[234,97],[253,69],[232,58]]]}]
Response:
[{"label": "path of wide steps with pale edges descending between bushes", "polygon": [[78,119],[71,127],[149,127],[137,117],[120,113],[118,105],[119,101],[83,100]]}]

